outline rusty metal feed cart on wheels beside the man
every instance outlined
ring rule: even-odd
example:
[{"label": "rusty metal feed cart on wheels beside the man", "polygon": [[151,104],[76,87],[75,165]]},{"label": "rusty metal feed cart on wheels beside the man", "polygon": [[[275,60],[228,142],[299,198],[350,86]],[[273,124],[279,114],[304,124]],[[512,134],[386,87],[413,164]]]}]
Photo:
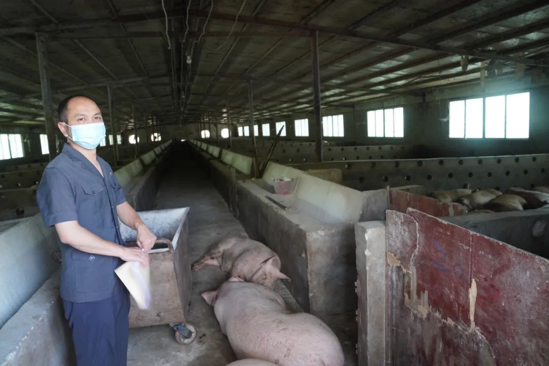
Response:
[{"label": "rusty metal feed cart on wheels beside the man", "polygon": [[[196,336],[194,326],[186,322],[191,300],[188,212],[188,207],[138,212],[159,239],[149,254],[152,306],[140,310],[132,298],[130,308],[130,328],[170,324],[181,344]],[[127,245],[136,245],[135,230],[120,223],[120,232]]]}]

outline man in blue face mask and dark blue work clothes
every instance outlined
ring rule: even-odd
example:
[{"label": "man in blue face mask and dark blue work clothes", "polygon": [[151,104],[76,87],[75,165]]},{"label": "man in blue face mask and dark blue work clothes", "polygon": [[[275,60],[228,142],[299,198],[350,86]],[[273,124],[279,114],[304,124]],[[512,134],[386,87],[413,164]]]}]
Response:
[{"label": "man in blue face mask and dark blue work clothes", "polygon": [[[130,299],[114,270],[124,261],[148,266],[156,237],[126,202],[110,165],[97,156],[105,137],[97,104],[73,95],[58,113],[68,144],[44,170],[37,201],[44,224],[55,226],[62,243],[60,295],[77,366],[125,366]],[[137,230],[139,248],[124,246],[119,218]]]}]

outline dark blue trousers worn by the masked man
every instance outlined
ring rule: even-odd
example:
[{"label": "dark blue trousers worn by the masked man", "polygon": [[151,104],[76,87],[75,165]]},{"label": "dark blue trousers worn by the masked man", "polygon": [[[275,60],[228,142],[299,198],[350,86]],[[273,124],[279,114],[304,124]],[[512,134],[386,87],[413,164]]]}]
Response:
[{"label": "dark blue trousers worn by the masked man", "polygon": [[127,290],[99,301],[63,300],[63,307],[72,329],[77,366],[126,366],[130,328]]}]

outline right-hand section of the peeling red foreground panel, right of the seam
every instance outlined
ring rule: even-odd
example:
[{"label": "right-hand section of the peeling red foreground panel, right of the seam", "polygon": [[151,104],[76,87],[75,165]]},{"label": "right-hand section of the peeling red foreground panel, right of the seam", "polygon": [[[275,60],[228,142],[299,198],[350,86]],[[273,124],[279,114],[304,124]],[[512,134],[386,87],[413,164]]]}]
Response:
[{"label": "right-hand section of the peeling red foreground panel, right of the seam", "polygon": [[549,364],[549,261],[483,235],[472,239],[474,325],[497,364]]}]

